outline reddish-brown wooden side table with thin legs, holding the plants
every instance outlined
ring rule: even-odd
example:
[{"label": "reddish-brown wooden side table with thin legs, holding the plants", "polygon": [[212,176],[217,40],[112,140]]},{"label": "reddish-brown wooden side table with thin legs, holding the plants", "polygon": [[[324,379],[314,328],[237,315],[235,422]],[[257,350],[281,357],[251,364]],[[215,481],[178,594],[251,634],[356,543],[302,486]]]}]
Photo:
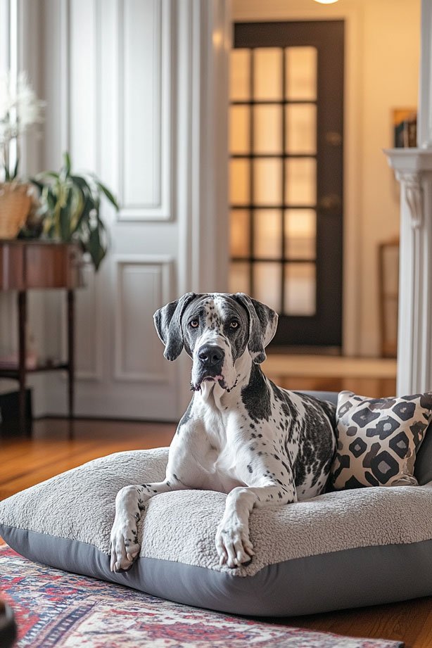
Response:
[{"label": "reddish-brown wooden side table with thin legs, holding the plants", "polygon": [[[25,381],[27,373],[37,371],[68,371],[68,413],[74,409],[74,320],[75,288],[84,286],[82,250],[75,243],[20,241],[0,239],[0,291],[18,291],[18,364],[1,367],[0,378],[18,381],[19,424],[25,429]],[[41,363],[26,367],[25,326],[27,322],[27,290],[31,288],[65,288],[68,302],[68,360],[57,364]],[[31,436],[31,429],[27,428]]]}]

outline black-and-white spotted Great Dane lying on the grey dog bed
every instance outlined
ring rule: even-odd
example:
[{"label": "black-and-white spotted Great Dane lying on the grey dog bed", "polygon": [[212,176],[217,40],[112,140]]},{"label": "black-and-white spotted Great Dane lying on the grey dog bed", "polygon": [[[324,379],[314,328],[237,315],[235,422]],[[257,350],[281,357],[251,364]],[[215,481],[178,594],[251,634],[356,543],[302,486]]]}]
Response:
[{"label": "black-and-white spotted Great Dane lying on the grey dog bed", "polygon": [[193,397],[177,427],[164,481],[122,488],[110,536],[112,571],[139,554],[137,523],[147,500],[179,489],[227,493],[216,533],[220,564],[250,562],[253,507],[322,493],[335,437],[334,406],[287,391],[262,373],[277,314],[244,293],[186,293],[154,315],[165,357],[192,358]]}]

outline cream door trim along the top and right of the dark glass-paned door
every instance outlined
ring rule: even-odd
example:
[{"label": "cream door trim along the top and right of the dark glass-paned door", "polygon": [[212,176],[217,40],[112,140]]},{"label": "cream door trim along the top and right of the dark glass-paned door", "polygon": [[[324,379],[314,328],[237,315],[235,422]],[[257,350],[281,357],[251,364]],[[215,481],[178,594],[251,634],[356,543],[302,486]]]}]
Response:
[{"label": "cream door trim along the top and right of the dark glass-paned door", "polygon": [[[315,3],[311,3],[311,5]],[[355,6],[339,3],[305,8],[303,0],[236,0],[232,6],[234,22],[279,22],[295,20],[345,21],[344,125],[343,125],[343,291],[342,353],[360,355],[360,219],[361,146],[360,96],[362,13]]]}]

